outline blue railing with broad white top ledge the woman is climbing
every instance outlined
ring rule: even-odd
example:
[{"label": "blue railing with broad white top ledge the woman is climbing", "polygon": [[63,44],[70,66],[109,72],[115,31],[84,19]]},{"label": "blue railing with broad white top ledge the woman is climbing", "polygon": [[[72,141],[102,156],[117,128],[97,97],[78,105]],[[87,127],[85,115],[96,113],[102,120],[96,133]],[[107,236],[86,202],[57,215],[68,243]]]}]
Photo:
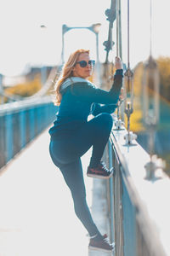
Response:
[{"label": "blue railing with broad white top ledge the woman is climbing", "polygon": [[136,141],[126,145],[126,133],[113,129],[105,152],[108,166],[115,168],[107,183],[113,255],[170,255],[170,179],[164,172],[145,178],[150,155]]}]

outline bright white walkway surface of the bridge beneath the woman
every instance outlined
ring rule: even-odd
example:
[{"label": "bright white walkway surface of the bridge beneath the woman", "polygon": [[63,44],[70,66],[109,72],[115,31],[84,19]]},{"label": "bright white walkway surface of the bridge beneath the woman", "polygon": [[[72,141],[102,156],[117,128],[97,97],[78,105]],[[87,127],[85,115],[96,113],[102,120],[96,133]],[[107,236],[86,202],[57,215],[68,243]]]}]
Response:
[{"label": "bright white walkway surface of the bridge beneath the woman", "polygon": [[[0,256],[107,256],[88,252],[87,231],[75,215],[71,193],[48,154],[48,129],[0,174]],[[88,205],[108,233],[105,180],[86,176]]]}]

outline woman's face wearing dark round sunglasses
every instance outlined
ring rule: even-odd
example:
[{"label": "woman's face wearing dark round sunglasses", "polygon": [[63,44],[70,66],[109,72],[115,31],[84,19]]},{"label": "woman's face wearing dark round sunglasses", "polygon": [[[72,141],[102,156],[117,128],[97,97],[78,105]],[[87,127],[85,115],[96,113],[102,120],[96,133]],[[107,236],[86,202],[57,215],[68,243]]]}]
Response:
[{"label": "woman's face wearing dark round sunglasses", "polygon": [[[79,61],[82,61],[81,63]],[[84,62],[86,61],[86,62]],[[82,53],[79,55],[75,67],[73,67],[73,76],[74,77],[80,77],[82,79],[88,79],[93,73],[93,65],[89,64],[90,62],[90,56],[88,53]],[[85,67],[81,67],[85,66]]]}]

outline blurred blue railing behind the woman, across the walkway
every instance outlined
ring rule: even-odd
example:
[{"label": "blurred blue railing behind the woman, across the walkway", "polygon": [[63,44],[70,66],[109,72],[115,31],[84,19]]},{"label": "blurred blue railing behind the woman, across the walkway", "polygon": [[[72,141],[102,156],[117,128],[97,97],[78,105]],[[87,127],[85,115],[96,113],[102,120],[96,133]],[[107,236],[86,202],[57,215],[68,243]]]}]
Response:
[{"label": "blurred blue railing behind the woman, across the walkway", "polygon": [[0,168],[53,122],[56,111],[50,96],[0,106]]}]

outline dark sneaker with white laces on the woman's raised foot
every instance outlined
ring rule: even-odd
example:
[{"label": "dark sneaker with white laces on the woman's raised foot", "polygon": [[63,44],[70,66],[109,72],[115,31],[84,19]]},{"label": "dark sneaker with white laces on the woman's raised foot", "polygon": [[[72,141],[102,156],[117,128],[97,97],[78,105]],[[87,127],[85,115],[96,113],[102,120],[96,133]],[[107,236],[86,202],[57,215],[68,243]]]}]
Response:
[{"label": "dark sneaker with white laces on the woman's raised foot", "polygon": [[113,168],[111,170],[108,170],[105,166],[104,162],[100,162],[99,166],[97,167],[90,167],[88,166],[88,177],[101,177],[101,178],[109,178],[113,174]]}]

